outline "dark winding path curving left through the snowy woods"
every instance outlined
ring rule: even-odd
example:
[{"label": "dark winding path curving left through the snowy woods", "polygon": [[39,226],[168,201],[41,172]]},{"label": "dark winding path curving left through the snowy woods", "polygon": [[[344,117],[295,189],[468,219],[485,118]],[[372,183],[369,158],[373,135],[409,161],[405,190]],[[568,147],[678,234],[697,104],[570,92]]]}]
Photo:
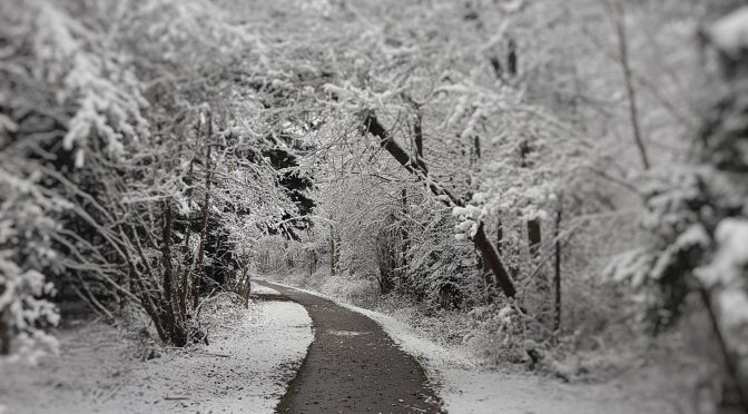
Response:
[{"label": "dark winding path curving left through the snowy woods", "polygon": [[315,328],[277,413],[443,413],[421,365],[374,321],[319,296],[256,283],[304,306]]}]

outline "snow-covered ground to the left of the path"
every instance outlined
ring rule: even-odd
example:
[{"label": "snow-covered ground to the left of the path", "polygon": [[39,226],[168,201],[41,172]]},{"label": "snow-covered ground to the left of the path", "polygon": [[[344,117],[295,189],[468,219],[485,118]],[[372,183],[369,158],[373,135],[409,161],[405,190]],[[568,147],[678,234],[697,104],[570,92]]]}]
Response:
[{"label": "snow-covered ground to the left of the path", "polygon": [[[312,343],[291,302],[258,300],[208,315],[209,346],[142,361],[131,333],[101,323],[60,332],[61,355],[0,365],[0,407],[37,413],[272,413]],[[0,413],[3,410],[0,408]]]}]

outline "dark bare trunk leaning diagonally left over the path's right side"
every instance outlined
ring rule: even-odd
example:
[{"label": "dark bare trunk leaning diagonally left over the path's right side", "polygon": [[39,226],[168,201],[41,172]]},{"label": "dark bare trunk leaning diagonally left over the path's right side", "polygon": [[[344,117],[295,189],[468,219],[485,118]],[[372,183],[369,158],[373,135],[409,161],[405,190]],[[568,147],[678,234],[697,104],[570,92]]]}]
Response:
[{"label": "dark bare trunk leaning diagonally left over the path's right side", "polygon": [[[388,136],[387,131],[384,129],[382,124],[374,115],[373,110],[370,110],[364,119],[364,131],[380,138],[380,145],[384,148],[390,155],[400,162],[403,168],[409,172],[419,177],[421,181],[427,181],[427,187],[431,193],[440,197],[440,201],[447,206],[464,206],[464,203],[455,197],[451,191],[441,186],[437,181],[429,179],[429,169],[426,168],[423,160],[416,160],[416,162],[411,162],[411,157]],[[449,199],[445,200],[444,198]],[[483,259],[488,264],[489,268],[493,273],[493,277],[496,280],[496,284],[501,286],[504,295],[508,297],[514,297],[516,295],[516,289],[514,288],[514,283],[510,277],[506,268],[504,267],[501,256],[496,252],[496,248],[493,246],[491,240],[485,236],[485,229],[483,223],[479,224],[478,233],[472,238],[473,244],[483,255]]]}]

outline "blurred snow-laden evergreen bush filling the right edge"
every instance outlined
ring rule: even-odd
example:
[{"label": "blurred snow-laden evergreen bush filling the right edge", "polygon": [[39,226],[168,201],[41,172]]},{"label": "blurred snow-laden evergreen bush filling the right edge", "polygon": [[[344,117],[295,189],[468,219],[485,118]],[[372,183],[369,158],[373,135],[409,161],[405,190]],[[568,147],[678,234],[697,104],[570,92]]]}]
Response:
[{"label": "blurred snow-laden evergreen bush filling the right edge", "polygon": [[[698,157],[653,174],[642,226],[656,237],[629,256],[626,276],[660,333],[699,309],[721,349],[728,393],[748,404],[748,43],[746,9],[717,21],[707,42],[721,61],[722,95],[706,114]],[[620,277],[619,277],[620,279]],[[719,378],[710,378],[719,381]]]}]

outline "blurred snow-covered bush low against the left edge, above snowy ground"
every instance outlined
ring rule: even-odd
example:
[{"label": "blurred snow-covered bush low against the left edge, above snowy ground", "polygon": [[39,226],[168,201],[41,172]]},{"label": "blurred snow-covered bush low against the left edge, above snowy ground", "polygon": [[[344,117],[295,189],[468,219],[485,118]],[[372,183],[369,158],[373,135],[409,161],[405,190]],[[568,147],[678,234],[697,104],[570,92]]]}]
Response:
[{"label": "blurred snow-covered bush low against the left edge, above snowy ground", "polygon": [[53,287],[42,272],[59,269],[52,248],[56,216],[66,203],[46,196],[38,183],[0,167],[0,355],[35,362],[56,352],[47,329],[59,322]]}]

